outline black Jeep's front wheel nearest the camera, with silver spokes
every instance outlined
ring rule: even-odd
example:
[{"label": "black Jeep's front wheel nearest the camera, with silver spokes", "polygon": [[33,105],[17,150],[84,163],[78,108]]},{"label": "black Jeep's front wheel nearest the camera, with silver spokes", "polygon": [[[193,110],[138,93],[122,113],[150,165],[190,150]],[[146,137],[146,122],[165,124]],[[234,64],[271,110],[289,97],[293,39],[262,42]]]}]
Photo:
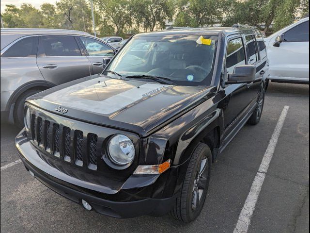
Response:
[{"label": "black Jeep's front wheel nearest the camera, with silver spokes", "polygon": [[210,148],[198,143],[189,160],[182,190],[171,210],[176,219],[188,223],[201,213],[208,192],[211,163]]}]

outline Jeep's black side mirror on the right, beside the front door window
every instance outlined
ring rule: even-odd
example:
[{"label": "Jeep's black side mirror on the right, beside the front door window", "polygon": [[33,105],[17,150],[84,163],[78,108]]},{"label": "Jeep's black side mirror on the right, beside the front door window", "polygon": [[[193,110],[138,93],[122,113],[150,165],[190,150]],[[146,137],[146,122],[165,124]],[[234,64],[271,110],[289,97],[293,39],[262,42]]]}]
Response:
[{"label": "Jeep's black side mirror on the right, beside the front door window", "polygon": [[256,67],[252,65],[241,65],[234,67],[233,74],[228,74],[226,84],[252,83],[255,81]]}]

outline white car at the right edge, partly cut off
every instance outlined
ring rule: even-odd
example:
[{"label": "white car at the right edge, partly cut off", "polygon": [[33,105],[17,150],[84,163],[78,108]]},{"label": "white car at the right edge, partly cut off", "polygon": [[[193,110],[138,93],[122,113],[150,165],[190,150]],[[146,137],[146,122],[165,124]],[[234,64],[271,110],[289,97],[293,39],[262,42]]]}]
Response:
[{"label": "white car at the right edge, partly cut off", "polygon": [[269,80],[309,84],[309,16],[265,38]]}]

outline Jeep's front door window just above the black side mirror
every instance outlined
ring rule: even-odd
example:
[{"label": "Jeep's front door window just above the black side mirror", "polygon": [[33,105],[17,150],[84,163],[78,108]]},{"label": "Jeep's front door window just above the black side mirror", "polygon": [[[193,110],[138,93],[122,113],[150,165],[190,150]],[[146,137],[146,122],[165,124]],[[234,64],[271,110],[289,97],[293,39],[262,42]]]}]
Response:
[{"label": "Jeep's front door window just above the black side mirror", "polygon": [[226,54],[226,68],[229,73],[233,73],[234,67],[246,64],[245,48],[241,38],[228,42]]}]

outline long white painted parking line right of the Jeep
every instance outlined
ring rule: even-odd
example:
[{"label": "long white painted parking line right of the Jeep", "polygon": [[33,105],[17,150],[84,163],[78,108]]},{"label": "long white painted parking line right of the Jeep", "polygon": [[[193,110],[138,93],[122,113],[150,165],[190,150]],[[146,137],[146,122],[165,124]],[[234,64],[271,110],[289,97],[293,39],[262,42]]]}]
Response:
[{"label": "long white painted parking line right of the Jeep", "polygon": [[258,169],[258,172],[256,173],[255,179],[252,183],[250,192],[248,194],[247,200],[241,210],[241,213],[239,215],[239,219],[237,221],[236,227],[233,231],[233,233],[247,233],[248,232],[248,226],[251,221],[251,217],[253,215],[253,211],[255,209],[255,205],[258,199],[258,196],[261,192],[263,181],[266,176],[266,172],[268,170],[270,161],[272,159],[273,153],[275,152],[277,142],[279,139],[279,135],[282,130],[282,126],[285,120],[285,117],[287,115],[287,112],[289,110],[289,106],[284,106],[282,113],[279,117],[277,126],[272,134],[272,137],[269,141],[269,145],[267,147],[267,150],[263,156],[263,160],[261,163],[261,166]]}]

